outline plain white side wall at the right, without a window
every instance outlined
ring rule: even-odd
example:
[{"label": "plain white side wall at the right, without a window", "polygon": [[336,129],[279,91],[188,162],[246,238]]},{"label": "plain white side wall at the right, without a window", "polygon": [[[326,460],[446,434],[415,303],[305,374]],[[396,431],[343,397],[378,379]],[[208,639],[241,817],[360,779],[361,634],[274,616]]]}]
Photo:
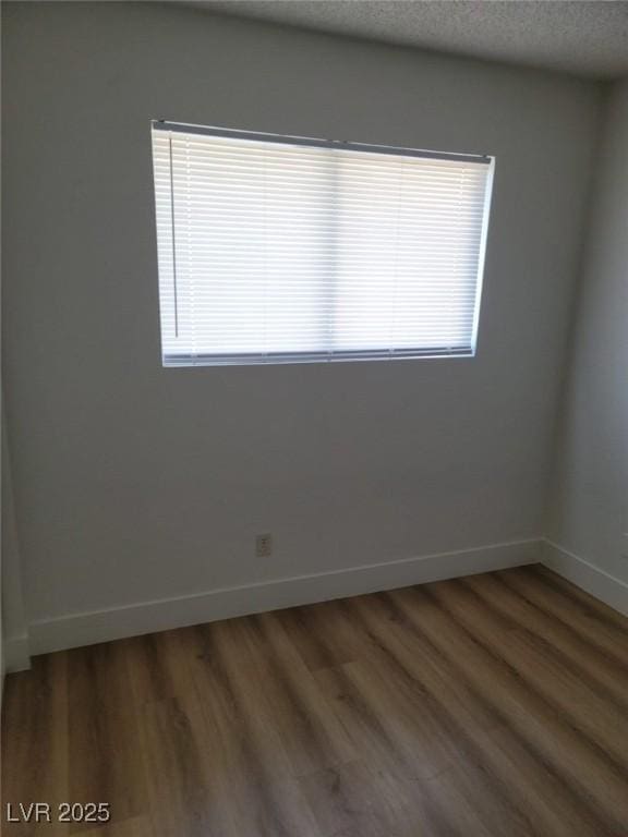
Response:
[{"label": "plain white side wall at the right, without a window", "polygon": [[628,582],[628,80],[604,113],[548,534]]}]

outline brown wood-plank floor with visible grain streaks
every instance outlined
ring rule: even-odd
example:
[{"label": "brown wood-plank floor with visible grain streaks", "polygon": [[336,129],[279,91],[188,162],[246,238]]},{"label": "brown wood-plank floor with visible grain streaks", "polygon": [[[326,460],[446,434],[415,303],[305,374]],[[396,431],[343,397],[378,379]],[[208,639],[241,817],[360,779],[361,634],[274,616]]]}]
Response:
[{"label": "brown wood-plank floor with visible grain streaks", "polygon": [[[541,567],[38,657],[3,805],[83,837],[628,835],[628,620]],[[3,812],[5,816],[5,811]]]}]

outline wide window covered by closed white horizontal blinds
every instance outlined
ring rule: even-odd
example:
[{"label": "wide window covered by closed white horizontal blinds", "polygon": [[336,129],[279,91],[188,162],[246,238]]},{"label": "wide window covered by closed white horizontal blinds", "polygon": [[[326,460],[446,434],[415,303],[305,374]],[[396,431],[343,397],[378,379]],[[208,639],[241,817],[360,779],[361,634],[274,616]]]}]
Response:
[{"label": "wide window covered by closed white horizontal blinds", "polygon": [[164,365],[474,353],[492,158],[153,123]]}]

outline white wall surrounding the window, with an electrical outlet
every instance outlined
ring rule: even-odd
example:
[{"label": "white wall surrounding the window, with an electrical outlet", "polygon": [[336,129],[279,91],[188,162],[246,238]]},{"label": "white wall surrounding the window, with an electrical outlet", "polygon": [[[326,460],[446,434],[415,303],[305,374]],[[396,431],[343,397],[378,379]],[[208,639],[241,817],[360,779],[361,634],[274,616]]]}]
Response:
[{"label": "white wall surrounding the window, with an electrical outlet", "polygon": [[[594,85],[172,5],[3,13],[31,620],[542,534]],[[152,118],[494,154],[478,356],[161,368]]]}]

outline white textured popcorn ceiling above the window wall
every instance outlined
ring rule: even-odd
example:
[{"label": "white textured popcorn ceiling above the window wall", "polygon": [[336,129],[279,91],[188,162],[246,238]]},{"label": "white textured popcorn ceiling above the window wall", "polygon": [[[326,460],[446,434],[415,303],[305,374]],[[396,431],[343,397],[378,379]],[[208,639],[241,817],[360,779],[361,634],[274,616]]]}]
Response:
[{"label": "white textured popcorn ceiling above the window wall", "polygon": [[628,75],[628,2],[216,0],[225,14],[559,70]]}]

